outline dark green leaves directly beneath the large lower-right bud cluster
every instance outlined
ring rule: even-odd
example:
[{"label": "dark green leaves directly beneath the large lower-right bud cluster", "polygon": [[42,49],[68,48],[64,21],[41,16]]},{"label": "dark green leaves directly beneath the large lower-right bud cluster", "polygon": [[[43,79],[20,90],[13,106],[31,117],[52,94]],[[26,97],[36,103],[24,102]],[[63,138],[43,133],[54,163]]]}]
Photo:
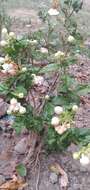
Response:
[{"label": "dark green leaves directly beneath the large lower-right bud cluster", "polygon": [[71,143],[83,147],[87,146],[89,142],[89,128],[71,128],[60,136],[54,131],[54,128],[49,127],[47,137],[45,138],[48,151],[64,151]]}]

